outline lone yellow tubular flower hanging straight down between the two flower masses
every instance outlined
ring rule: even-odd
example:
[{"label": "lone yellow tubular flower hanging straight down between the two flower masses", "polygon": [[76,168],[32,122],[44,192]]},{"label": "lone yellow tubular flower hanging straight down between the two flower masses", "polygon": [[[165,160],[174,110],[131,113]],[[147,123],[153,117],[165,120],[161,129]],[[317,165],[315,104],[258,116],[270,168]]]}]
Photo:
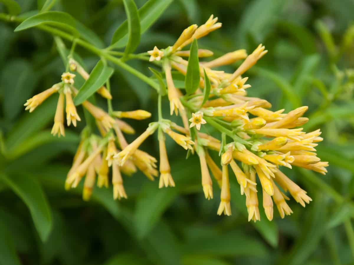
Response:
[{"label": "lone yellow tubular flower hanging straight down between the two flower masses", "polygon": [[171,167],[169,159],[167,158],[165,136],[159,133],[159,149],[160,149],[160,181],[159,188],[162,187],[175,187],[175,182],[171,176]]}]

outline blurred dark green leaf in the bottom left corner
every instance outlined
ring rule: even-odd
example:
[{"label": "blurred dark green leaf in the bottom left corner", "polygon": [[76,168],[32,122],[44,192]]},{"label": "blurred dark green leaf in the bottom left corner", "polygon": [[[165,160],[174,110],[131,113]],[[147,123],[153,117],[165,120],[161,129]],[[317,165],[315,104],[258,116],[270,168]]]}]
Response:
[{"label": "blurred dark green leaf in the bottom left corner", "polygon": [[16,254],[15,244],[13,243],[11,232],[3,220],[0,220],[0,263],[21,265]]}]

